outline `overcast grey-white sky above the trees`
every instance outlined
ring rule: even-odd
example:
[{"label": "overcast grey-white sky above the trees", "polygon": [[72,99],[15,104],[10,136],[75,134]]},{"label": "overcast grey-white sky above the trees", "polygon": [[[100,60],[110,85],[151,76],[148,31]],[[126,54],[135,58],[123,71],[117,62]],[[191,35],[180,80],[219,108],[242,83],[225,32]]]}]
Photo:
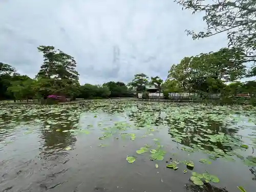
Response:
[{"label": "overcast grey-white sky above the trees", "polygon": [[47,45],[75,57],[81,83],[165,79],[183,57],[226,47],[225,34],[186,36],[204,28],[172,0],[0,0],[0,61],[34,77]]}]

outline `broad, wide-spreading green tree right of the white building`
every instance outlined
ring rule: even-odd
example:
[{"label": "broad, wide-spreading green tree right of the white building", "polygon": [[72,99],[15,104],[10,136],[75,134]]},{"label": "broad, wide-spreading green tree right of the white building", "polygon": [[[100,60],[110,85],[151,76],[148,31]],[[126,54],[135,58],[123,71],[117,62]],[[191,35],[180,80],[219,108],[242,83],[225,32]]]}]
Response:
[{"label": "broad, wide-spreading green tree right of the white building", "polygon": [[201,53],[184,57],[178,65],[173,65],[168,78],[176,79],[185,90],[191,83],[207,78],[234,81],[246,75],[242,50],[223,48],[217,52]]}]

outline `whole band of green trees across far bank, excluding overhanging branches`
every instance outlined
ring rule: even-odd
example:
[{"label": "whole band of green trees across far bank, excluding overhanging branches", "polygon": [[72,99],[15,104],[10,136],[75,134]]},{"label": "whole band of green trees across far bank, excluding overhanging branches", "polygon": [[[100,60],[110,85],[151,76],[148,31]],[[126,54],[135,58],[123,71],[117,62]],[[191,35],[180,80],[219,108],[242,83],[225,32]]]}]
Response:
[{"label": "whole band of green trees across far bank, excluding overhanging branches", "polygon": [[0,63],[1,99],[41,99],[53,94],[73,99],[133,97],[137,93],[148,96],[146,84],[154,84],[159,96],[162,92],[165,98],[174,92],[218,93],[225,97],[239,93],[255,95],[256,92],[255,81],[239,81],[254,75],[246,67],[246,54],[242,48],[222,48],[216,52],[184,57],[170,67],[165,81],[159,76],[149,78],[138,73],[127,86],[121,81],[80,85],[74,57],[53,46],[39,46],[37,49],[44,60],[35,78],[20,75],[12,66]]}]

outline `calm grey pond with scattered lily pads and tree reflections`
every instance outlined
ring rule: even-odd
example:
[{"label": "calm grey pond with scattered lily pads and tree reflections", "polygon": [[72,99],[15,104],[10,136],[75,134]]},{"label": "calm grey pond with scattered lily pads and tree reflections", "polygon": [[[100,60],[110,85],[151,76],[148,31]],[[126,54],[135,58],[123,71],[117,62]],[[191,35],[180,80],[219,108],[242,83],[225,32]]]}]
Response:
[{"label": "calm grey pond with scattered lily pads and tree reflections", "polygon": [[3,104],[1,191],[255,191],[256,109]]}]

